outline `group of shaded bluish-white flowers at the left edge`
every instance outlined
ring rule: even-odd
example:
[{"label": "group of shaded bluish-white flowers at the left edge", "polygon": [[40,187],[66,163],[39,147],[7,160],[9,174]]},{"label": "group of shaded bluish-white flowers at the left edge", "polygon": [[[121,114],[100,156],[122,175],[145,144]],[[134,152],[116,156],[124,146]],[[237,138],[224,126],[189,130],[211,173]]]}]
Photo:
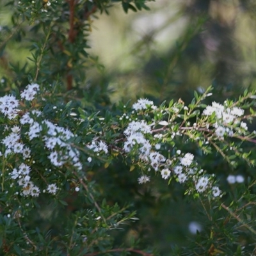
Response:
[{"label": "group of shaded bluish-white flowers at the left edge", "polygon": [[[38,90],[38,84],[29,84],[26,90],[20,94],[20,97],[25,100],[32,100]],[[3,115],[13,119],[17,117],[19,111],[19,100],[13,95],[0,97],[0,112]],[[65,163],[71,163],[77,170],[82,169],[82,164],[79,161],[79,151],[73,148],[69,142],[71,138],[74,138],[74,134],[68,129],[52,124],[49,120],[44,120],[41,111],[33,109],[24,113],[20,118],[17,118],[17,124],[7,126],[6,131],[10,128],[12,132],[1,141],[4,145],[5,157],[15,154],[19,156],[21,161],[27,161],[31,158],[31,149],[28,147],[29,141],[40,138],[43,142],[42,151],[47,149],[45,153],[48,154],[49,161],[53,166],[60,167]],[[21,136],[23,129],[28,129],[25,137]],[[25,143],[26,140],[28,140],[28,143]],[[10,177],[17,180],[17,184],[22,186],[20,195],[38,196],[40,189],[31,181],[33,176],[30,175],[30,172],[31,167],[22,163],[18,168],[13,168]],[[57,189],[56,184],[50,184],[47,187],[47,191],[52,194],[55,194]]]}]

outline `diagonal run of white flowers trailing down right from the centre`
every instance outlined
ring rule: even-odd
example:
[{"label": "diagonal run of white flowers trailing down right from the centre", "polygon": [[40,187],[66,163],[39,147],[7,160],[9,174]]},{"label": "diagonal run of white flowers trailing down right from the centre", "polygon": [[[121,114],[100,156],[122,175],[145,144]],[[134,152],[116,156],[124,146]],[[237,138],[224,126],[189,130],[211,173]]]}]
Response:
[{"label": "diagonal run of white flowers trailing down right from the centre", "polygon": [[[182,154],[179,157],[173,157],[174,161],[166,159],[162,154],[152,149],[152,145],[149,140],[145,138],[145,135],[152,134],[151,127],[144,120],[132,121],[128,124],[124,131],[127,140],[124,143],[124,151],[129,153],[136,148],[139,151],[140,160],[143,161],[145,168],[149,165],[148,171],[153,168],[156,172],[161,173],[163,179],[169,179],[173,170],[173,175],[177,177],[180,183],[191,181],[195,184],[194,189],[198,193],[203,193],[206,190],[211,191],[212,196],[217,197],[221,195],[221,191],[218,187],[212,186],[212,180],[204,175],[204,171],[198,171],[196,163],[194,163],[194,156],[191,153]],[[155,138],[156,136],[154,136]],[[157,137],[158,138],[158,137]],[[159,136],[161,139],[162,137]],[[156,145],[156,149],[160,149],[160,145]],[[180,150],[177,150],[177,155],[180,155]],[[173,164],[179,159],[179,164],[173,167]],[[163,168],[162,168],[163,166]],[[147,175],[141,175],[138,178],[139,184],[144,184],[150,180]]]}]

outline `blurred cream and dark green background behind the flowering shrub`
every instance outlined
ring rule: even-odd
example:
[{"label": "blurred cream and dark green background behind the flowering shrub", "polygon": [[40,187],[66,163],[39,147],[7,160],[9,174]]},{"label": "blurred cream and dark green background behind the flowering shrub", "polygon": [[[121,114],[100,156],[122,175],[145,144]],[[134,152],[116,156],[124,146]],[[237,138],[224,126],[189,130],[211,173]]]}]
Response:
[{"label": "blurred cream and dark green background behind the flowering shrub", "polygon": [[[5,6],[7,2],[0,2],[2,88],[13,76],[20,86],[28,84],[24,75],[33,67],[27,58],[31,57],[31,41],[40,39],[36,26],[31,29],[22,24],[21,32],[12,31],[12,6]],[[256,87],[255,1],[157,0],[148,6],[150,11],[129,10],[127,14],[121,4],[113,4],[109,14],[90,17],[86,31],[86,52],[90,55],[79,71],[83,83],[76,84],[77,91],[83,90],[79,100],[84,105],[92,102],[96,108],[110,108],[119,100],[138,97],[148,97],[156,104],[179,98],[188,103],[194,90],[203,92],[211,84],[214,94],[208,103],[223,102],[227,97],[236,99],[244,88]],[[22,39],[20,33],[26,36]],[[9,36],[8,44],[1,48]],[[20,74],[14,74],[13,67],[18,66]],[[216,173],[223,191],[235,194],[236,186],[244,186],[227,183],[232,170],[218,154],[202,156],[195,145],[182,145],[182,141],[179,147],[193,152],[205,170]],[[244,178],[254,175],[244,163],[234,174]],[[189,244],[188,237],[195,236],[196,227],[203,232],[209,228],[207,216],[200,210],[202,205],[186,200],[182,186],[176,182],[166,186],[162,179],[138,185],[138,173],[129,172],[122,159],[108,168],[95,167],[88,177],[97,181],[99,193],[108,204],[118,202],[138,212],[140,221],[123,232],[113,232],[116,244],[129,246],[131,239],[141,239],[145,247],[172,255],[175,244]],[[226,196],[224,200],[230,199]],[[79,202],[74,202],[72,211],[76,211],[76,204]],[[239,239],[249,244],[246,237]]]}]

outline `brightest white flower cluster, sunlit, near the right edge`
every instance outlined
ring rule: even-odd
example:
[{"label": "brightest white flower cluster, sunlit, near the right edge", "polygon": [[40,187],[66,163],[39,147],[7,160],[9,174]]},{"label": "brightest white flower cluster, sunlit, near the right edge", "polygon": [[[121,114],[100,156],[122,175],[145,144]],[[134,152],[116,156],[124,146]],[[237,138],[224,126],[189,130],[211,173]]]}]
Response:
[{"label": "brightest white flower cluster, sunlit, near the right edge", "polygon": [[217,122],[214,124],[215,134],[221,140],[223,140],[225,132],[227,132],[228,136],[233,136],[233,128],[236,129],[238,124],[240,124],[240,127],[236,131],[239,133],[243,133],[244,130],[248,129],[246,123],[239,120],[239,117],[244,115],[244,110],[241,108],[226,108],[220,103],[212,102],[212,106],[207,106],[204,109],[203,115],[211,116],[212,113],[215,113],[217,118]]}]

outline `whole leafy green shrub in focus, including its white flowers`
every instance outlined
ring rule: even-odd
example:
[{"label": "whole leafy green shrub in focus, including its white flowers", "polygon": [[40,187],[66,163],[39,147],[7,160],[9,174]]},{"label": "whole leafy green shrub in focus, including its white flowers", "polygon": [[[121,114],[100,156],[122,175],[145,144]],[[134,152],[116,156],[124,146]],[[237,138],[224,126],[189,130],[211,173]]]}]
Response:
[{"label": "whole leafy green shrub in focus, including its white flowers", "polygon": [[[87,77],[104,70],[88,53],[92,17],[118,3],[125,13],[149,10],[147,2],[1,2],[12,17],[0,34],[0,255],[255,252],[255,91],[223,104],[208,103],[210,86],[188,104],[111,105],[108,83]],[[156,74],[160,97],[205,20]],[[24,60],[9,59],[14,44],[29,52]],[[241,168],[243,177],[228,176]],[[180,243],[193,218],[201,226]]]}]

